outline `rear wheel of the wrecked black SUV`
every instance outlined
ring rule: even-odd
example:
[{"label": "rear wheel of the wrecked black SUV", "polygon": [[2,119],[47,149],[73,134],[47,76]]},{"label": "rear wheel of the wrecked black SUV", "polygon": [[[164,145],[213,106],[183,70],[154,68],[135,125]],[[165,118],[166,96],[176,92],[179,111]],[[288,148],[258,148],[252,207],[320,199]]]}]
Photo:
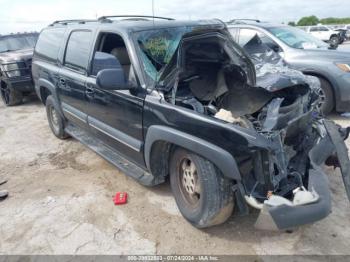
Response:
[{"label": "rear wheel of the wrecked black SUV", "polygon": [[52,133],[59,139],[66,139],[69,135],[64,131],[65,120],[58,111],[58,106],[53,96],[46,99],[46,114]]}]

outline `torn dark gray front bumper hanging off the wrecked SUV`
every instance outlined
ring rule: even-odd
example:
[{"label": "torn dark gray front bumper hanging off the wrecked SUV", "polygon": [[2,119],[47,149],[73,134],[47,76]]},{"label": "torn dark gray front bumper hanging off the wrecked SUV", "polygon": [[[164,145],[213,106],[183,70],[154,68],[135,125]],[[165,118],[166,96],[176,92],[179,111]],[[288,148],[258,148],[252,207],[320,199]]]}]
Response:
[{"label": "torn dark gray front bumper hanging off the wrecked SUV", "polygon": [[330,121],[325,121],[327,135],[323,137],[309,152],[309,189],[314,189],[319,199],[317,202],[301,206],[280,205],[270,207],[264,204],[255,224],[256,228],[263,230],[285,230],[297,226],[310,224],[321,220],[331,212],[331,194],[328,178],[321,165],[332,155],[339,157],[344,185],[350,199],[350,168],[349,158],[343,138],[348,136],[349,130],[343,129],[341,137],[339,128]]}]

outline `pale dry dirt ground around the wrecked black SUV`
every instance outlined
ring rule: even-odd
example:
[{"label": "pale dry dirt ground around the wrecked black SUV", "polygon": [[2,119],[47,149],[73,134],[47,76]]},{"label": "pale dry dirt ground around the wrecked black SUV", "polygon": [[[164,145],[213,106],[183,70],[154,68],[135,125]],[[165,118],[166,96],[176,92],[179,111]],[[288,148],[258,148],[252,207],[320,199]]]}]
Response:
[{"label": "pale dry dirt ground around the wrecked black SUV", "polygon": [[[339,171],[327,173],[333,213],[318,223],[257,231],[253,212],[198,230],[169,184],[145,188],[74,139],[56,139],[34,98],[0,102],[0,190],[10,192],[0,202],[0,254],[350,254],[350,205]],[[127,205],[113,205],[117,191],[129,193]]]}]

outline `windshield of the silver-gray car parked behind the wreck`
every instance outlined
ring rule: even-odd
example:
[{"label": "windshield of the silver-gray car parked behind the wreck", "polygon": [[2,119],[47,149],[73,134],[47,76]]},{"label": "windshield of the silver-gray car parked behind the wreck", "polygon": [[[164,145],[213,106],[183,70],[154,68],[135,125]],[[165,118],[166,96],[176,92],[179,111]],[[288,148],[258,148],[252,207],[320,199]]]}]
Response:
[{"label": "windshield of the silver-gray car parked behind the wreck", "polygon": [[298,49],[326,48],[328,45],[303,30],[291,26],[267,28],[274,36],[290,47]]}]

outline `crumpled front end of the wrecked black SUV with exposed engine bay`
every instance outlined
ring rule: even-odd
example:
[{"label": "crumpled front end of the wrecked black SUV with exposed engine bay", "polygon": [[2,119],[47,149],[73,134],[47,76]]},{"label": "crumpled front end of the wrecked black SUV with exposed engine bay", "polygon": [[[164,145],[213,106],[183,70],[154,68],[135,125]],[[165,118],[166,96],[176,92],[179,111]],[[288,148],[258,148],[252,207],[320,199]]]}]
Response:
[{"label": "crumpled front end of the wrecked black SUV with exposed engine bay", "polygon": [[156,87],[171,104],[239,126],[240,134],[232,137],[250,134],[232,155],[241,176],[238,206],[261,210],[257,227],[312,223],[331,210],[320,167],[326,160],[346,155],[341,165],[333,164],[342,167],[349,189],[343,141],[348,130],[323,118],[317,78],[288,68],[271,50],[253,48],[253,42],[248,59],[224,31],[185,36]]}]

